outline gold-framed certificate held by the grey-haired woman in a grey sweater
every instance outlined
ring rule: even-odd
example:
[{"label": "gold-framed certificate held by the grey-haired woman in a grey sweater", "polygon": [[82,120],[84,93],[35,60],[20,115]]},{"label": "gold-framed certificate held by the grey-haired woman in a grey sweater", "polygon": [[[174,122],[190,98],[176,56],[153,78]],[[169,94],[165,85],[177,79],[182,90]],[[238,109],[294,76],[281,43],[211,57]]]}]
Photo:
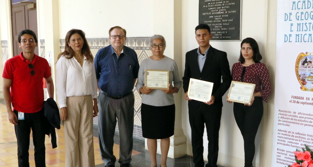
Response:
[{"label": "gold-framed certificate held by the grey-haired woman in a grey sweater", "polygon": [[145,86],[148,89],[169,89],[169,70],[146,70]]}]

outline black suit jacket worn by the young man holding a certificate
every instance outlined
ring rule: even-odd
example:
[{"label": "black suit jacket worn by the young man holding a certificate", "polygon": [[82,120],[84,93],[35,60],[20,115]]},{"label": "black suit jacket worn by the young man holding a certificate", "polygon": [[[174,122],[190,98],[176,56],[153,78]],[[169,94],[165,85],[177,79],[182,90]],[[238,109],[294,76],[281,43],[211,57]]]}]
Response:
[{"label": "black suit jacket worn by the young man holding a certificate", "polygon": [[[202,72],[200,72],[197,50],[198,48],[186,53],[185,73],[182,78],[184,91],[185,93],[188,91],[190,78],[213,82],[212,95],[215,97],[213,105],[222,107],[222,96],[228,90],[232,80],[227,53],[210,46]],[[221,78],[223,80],[222,83]],[[200,103],[203,102],[191,100],[188,101],[188,106],[198,108]]]}]

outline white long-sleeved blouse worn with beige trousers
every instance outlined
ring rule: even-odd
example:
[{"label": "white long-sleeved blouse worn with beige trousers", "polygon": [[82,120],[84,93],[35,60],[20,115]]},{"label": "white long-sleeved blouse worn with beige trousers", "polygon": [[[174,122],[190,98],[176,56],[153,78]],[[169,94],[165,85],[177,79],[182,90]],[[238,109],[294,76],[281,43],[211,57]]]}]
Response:
[{"label": "white long-sleeved blouse worn with beige trousers", "polygon": [[75,58],[62,55],[56,65],[56,93],[59,107],[66,107],[66,97],[92,95],[97,98],[95,65],[84,56],[83,67]]}]

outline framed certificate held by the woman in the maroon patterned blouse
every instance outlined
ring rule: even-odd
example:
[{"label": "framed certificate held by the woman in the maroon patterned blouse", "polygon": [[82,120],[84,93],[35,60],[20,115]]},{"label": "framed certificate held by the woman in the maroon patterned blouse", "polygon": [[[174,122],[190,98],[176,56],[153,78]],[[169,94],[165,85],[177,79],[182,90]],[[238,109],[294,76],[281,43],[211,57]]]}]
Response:
[{"label": "framed certificate held by the woman in the maroon patterned blouse", "polygon": [[228,101],[238,102],[238,103],[248,103],[253,96],[255,84],[232,81],[228,91]]}]

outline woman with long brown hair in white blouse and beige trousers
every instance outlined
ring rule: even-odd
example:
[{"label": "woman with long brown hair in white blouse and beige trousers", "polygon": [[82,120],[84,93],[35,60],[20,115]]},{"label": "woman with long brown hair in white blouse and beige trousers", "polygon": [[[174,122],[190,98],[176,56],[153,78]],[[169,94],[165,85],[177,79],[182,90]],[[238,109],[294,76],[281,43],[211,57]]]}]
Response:
[{"label": "woman with long brown hair in white blouse and beige trousers", "polygon": [[93,120],[97,116],[97,80],[94,57],[85,33],[71,29],[65,50],[56,65],[56,92],[64,125],[65,164],[70,167],[95,166]]}]

